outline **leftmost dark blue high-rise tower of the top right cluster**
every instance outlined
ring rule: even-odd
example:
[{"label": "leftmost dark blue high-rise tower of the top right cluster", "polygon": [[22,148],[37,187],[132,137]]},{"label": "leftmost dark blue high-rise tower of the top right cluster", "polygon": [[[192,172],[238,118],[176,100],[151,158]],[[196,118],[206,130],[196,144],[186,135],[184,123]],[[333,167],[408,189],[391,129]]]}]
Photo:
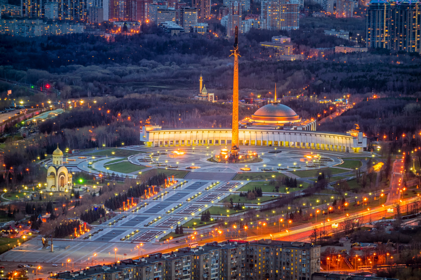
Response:
[{"label": "leftmost dark blue high-rise tower of the top right cluster", "polygon": [[366,43],[369,48],[389,48],[390,4],[386,0],[372,0],[367,8]]}]

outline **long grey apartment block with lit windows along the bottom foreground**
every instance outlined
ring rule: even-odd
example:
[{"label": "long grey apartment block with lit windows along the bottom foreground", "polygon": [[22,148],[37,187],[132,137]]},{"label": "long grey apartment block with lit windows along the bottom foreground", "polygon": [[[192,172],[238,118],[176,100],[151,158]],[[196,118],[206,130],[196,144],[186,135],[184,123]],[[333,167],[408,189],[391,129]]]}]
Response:
[{"label": "long grey apartment block with lit windows along the bottom foreground", "polygon": [[118,265],[51,275],[49,280],[310,280],[320,246],[280,240],[211,242]]}]

